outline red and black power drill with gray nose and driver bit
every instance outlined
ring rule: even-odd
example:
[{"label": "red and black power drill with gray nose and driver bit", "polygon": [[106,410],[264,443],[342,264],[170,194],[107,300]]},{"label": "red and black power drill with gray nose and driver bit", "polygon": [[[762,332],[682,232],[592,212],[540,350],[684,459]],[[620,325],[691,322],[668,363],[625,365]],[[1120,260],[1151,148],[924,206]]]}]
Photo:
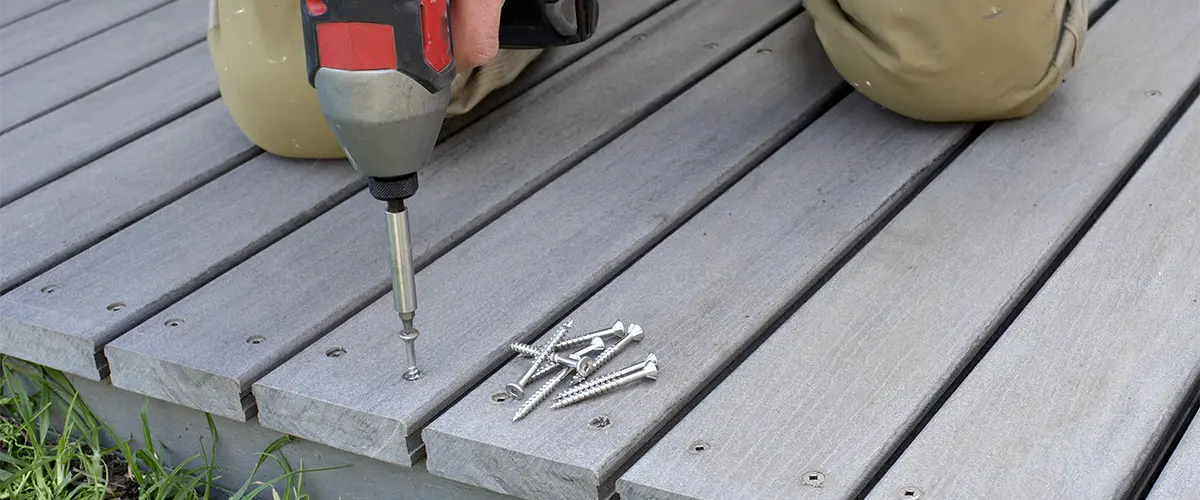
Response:
[{"label": "red and black power drill with gray nose and driver bit", "polygon": [[[295,0],[293,0],[295,1]],[[448,0],[299,0],[308,84],[347,159],[386,206],[392,300],[416,380],[415,270],[406,200],[437,143],[455,76]],[[508,0],[500,47],[577,43],[595,0]]]}]

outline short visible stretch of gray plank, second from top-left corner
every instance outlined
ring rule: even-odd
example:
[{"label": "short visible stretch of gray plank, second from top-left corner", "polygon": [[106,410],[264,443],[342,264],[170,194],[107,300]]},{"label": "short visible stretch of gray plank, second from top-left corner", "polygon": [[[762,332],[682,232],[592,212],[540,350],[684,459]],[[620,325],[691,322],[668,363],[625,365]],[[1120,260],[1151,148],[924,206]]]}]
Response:
[{"label": "short visible stretch of gray plank, second from top-left corner", "polygon": [[[24,0],[10,0],[22,2]],[[0,74],[88,38],[168,0],[74,0],[0,29]]]}]

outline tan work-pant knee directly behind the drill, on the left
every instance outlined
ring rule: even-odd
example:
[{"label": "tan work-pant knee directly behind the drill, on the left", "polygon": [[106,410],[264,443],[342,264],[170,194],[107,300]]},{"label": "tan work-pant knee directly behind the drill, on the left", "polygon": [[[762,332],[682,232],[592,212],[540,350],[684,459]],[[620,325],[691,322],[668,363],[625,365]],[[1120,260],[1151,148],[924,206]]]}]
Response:
[{"label": "tan work-pant knee directly behind the drill, on the left", "polygon": [[[259,147],[293,158],[344,158],[308,85],[299,0],[210,0],[209,52],[234,122]],[[541,50],[504,50],[458,73],[448,116],[511,83]]]}]

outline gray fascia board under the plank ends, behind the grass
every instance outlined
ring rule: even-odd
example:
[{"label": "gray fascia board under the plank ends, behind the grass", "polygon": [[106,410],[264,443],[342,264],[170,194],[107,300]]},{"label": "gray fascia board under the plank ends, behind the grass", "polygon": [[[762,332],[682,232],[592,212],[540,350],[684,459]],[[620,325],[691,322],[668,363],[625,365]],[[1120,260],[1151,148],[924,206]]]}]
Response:
[{"label": "gray fascia board under the plank ends, behind the grass", "polygon": [[[68,379],[79,391],[80,402],[88,404],[118,436],[130,440],[136,447],[145,446],[140,408],[144,402],[149,403],[146,414],[150,421],[150,435],[163,463],[179,464],[198,457],[190,463],[194,466],[203,458],[202,452],[210,453],[215,448],[216,453],[209,454],[220,468],[215,482],[226,488],[240,488],[258,464],[258,453],[276,439],[283,438],[283,434],[263,428],[254,420],[234,422],[214,417],[217,429],[216,446],[214,446],[208,420],[200,411],[156,399],[144,400],[132,392],[113,387],[107,381],[91,381],[70,375]],[[299,439],[294,439],[277,454],[284,456],[293,469],[310,470],[304,475],[302,489],[312,499],[516,500],[433,476],[425,470],[424,464],[398,468]],[[312,471],[323,468],[342,469]],[[268,459],[254,478],[269,481],[282,474],[275,460]],[[282,482],[276,487],[281,486]],[[282,495],[282,492],[280,493]],[[388,496],[384,496],[385,493]],[[271,500],[270,492],[259,498]]]}]

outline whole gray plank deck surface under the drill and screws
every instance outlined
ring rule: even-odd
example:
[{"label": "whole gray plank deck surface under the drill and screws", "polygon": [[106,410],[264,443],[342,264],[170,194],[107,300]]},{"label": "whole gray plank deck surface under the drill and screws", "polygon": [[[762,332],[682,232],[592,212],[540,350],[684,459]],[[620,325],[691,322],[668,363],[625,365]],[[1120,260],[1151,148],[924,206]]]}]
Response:
[{"label": "whole gray plank deck surface under the drill and screws", "polygon": [[[415,382],[382,205],[242,137],[205,0],[0,6],[0,353],[421,498],[1200,488],[1189,0],[1093,1],[1037,114],[937,125],[844,82],[800,0],[602,5],[421,174]],[[512,422],[509,343],[568,319],[640,325],[600,372],[661,373]]]}]

